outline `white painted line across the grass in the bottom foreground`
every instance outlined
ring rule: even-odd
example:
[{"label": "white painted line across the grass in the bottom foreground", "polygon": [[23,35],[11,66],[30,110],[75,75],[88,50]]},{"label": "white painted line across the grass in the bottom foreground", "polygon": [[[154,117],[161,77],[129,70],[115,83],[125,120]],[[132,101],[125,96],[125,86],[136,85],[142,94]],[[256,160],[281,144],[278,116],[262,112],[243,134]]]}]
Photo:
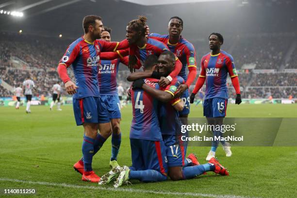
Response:
[{"label": "white painted line across the grass in the bottom foreground", "polygon": [[110,188],[110,187],[101,187],[101,186],[82,186],[74,185],[67,183],[52,183],[46,181],[24,181],[8,178],[0,178],[0,181],[11,181],[11,182],[20,182],[28,184],[38,184],[38,185],[47,185],[47,186],[59,186],[59,187],[69,187],[69,188],[85,188],[85,189],[96,189],[96,190],[107,190],[107,191],[118,191],[118,192],[131,192],[131,193],[150,193],[157,195],[182,195],[182,196],[193,196],[193,197],[206,197],[206,198],[249,198],[236,195],[214,195],[214,194],[203,194],[203,193],[179,193],[179,192],[165,192],[165,191],[153,191],[153,190],[140,190],[133,188]]}]

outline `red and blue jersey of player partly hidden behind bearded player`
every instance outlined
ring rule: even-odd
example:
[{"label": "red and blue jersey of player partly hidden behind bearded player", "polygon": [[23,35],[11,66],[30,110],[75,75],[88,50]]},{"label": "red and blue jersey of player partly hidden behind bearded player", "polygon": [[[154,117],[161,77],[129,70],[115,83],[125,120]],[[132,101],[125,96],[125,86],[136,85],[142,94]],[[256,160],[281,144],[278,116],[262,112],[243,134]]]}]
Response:
[{"label": "red and blue jersey of player partly hidden behind bearded player", "polygon": [[118,95],[116,75],[118,72],[119,63],[127,66],[129,63],[129,56],[118,58],[112,61],[101,60],[101,65],[99,66],[98,72],[100,95]]}]

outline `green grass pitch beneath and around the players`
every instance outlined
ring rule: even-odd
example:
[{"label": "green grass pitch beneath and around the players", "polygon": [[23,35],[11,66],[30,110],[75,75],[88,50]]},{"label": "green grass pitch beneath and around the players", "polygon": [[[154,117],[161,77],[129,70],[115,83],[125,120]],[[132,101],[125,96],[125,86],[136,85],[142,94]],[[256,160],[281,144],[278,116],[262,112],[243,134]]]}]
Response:
[{"label": "green grass pitch beneath and around the players", "polygon": [[[114,189],[112,185],[81,181],[72,165],[82,156],[82,127],[75,125],[72,106],[49,111],[48,106],[0,107],[0,197],[3,189],[35,189],[39,197],[279,197],[297,196],[297,147],[233,147],[231,158],[218,148],[220,163],[230,176],[209,172],[197,179],[141,183]],[[297,117],[297,105],[228,105],[228,117]],[[201,117],[201,105],[190,117]],[[122,109],[120,165],[131,165],[129,129],[132,108]],[[210,148],[190,147],[200,163]],[[109,168],[111,141],[93,159],[93,168],[103,175]],[[31,197],[31,196],[30,196]]]}]

